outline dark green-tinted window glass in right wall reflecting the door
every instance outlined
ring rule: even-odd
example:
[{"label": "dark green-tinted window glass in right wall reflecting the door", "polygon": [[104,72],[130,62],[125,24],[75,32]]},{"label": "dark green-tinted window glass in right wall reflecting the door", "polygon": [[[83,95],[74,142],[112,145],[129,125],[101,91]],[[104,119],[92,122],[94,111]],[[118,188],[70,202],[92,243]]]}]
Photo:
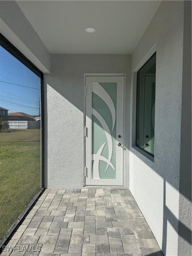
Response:
[{"label": "dark green-tinted window glass in right wall reflecting the door", "polygon": [[136,146],[154,156],[156,53],[137,72]]}]

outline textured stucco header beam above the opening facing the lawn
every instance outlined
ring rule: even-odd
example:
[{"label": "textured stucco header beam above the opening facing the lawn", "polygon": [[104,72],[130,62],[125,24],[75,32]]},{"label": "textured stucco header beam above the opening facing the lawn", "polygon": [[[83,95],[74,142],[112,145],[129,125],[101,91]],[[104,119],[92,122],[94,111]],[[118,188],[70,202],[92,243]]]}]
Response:
[{"label": "textured stucco header beam above the opening facing the lawn", "polygon": [[51,55],[16,1],[0,1],[0,32],[42,72],[49,72]]}]

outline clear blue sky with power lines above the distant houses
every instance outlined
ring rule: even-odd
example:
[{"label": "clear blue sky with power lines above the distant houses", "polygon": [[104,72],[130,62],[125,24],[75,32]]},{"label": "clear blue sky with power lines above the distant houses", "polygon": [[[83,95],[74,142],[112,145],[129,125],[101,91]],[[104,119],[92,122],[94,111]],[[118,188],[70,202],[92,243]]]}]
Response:
[{"label": "clear blue sky with power lines above the distant houses", "polygon": [[40,78],[0,46],[0,107],[39,115],[39,99]]}]

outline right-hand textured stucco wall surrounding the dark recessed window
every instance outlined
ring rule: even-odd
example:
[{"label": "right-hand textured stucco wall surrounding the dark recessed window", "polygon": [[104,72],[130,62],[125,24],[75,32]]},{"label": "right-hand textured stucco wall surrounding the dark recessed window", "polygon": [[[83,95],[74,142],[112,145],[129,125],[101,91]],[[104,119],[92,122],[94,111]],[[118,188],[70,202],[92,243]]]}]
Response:
[{"label": "right-hand textured stucco wall surrounding the dark recessed window", "polygon": [[[184,1],[163,1],[132,54],[130,190],[165,255],[178,254]],[[135,145],[136,67],[156,48],[154,159]]]}]

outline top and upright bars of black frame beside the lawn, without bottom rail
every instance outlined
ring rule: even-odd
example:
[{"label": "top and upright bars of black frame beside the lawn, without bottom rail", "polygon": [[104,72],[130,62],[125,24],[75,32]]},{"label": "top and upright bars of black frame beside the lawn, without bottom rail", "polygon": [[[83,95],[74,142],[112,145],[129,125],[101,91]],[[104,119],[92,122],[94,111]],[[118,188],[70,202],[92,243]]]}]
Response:
[{"label": "top and upright bars of black frame beside the lawn, without bottom rail", "polygon": [[33,73],[40,78],[40,94],[41,94],[41,190],[45,187],[45,152],[44,152],[44,89],[43,89],[43,72],[41,72],[25,55],[20,52],[6,37],[0,33],[0,46],[23,63]]}]

